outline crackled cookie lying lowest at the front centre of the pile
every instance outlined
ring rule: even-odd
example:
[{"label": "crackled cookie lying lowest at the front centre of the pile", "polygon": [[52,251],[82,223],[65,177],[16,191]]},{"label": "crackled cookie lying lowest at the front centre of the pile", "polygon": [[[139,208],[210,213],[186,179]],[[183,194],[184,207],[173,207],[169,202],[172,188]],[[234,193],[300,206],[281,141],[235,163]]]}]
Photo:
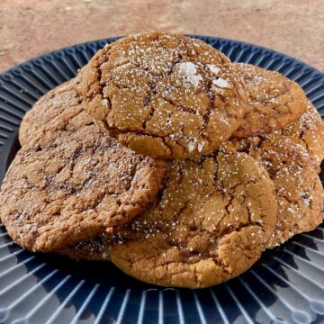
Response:
[{"label": "crackled cookie lying lowest at the front centre of the pile", "polygon": [[273,184],[247,154],[174,160],[157,201],[115,233],[108,256],[150,284],[220,284],[257,261],[275,216]]}]

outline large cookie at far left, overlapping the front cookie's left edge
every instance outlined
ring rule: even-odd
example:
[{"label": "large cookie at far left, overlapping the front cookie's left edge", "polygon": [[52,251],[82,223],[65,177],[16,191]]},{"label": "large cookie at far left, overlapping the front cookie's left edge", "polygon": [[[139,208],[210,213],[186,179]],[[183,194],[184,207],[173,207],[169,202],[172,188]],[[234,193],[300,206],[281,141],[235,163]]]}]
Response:
[{"label": "large cookie at far left, overlapping the front cookie's left edge", "polygon": [[0,192],[9,235],[32,251],[93,238],[143,211],[165,162],[103,135],[82,104],[67,105],[14,158]]}]

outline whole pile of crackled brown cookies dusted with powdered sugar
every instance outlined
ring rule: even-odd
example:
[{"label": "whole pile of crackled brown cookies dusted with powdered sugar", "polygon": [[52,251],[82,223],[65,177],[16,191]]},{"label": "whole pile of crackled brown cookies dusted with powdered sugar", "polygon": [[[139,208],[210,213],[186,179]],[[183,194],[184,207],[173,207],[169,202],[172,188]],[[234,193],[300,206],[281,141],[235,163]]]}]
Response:
[{"label": "whole pile of crackled brown cookies dusted with powdered sugar", "polygon": [[323,220],[324,123],[284,76],[181,35],[99,50],[23,120],[0,193],[33,252],[220,284]]}]

